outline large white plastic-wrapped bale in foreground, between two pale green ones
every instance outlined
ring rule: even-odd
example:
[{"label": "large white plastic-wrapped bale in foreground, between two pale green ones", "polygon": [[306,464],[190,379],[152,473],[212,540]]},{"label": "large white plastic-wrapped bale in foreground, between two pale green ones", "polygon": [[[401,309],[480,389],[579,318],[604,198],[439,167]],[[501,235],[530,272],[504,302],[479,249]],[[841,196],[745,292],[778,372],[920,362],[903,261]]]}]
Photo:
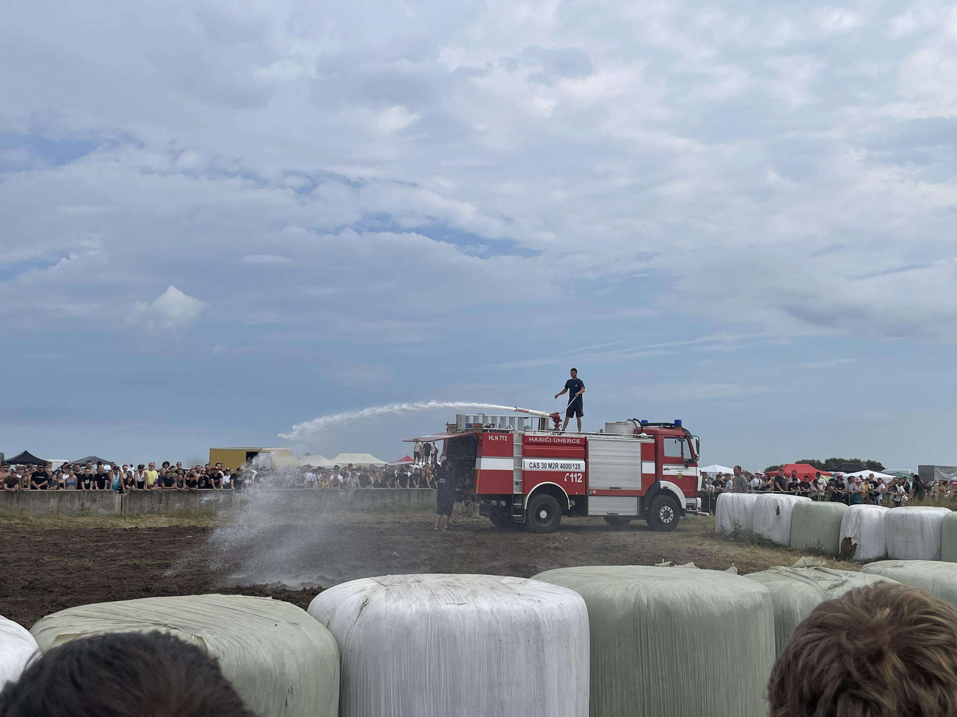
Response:
[{"label": "large white plastic-wrapped bale in foreground, between two pale green ones", "polygon": [[329,588],[309,614],[339,641],[341,717],[585,717],[581,597],[521,577],[382,576]]}]

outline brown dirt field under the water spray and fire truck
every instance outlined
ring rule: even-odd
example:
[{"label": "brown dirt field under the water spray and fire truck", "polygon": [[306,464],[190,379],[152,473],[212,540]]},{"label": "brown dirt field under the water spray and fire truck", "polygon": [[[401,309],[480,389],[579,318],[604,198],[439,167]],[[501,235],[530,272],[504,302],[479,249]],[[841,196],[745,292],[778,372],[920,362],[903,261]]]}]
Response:
[{"label": "brown dirt field under the water spray and fire truck", "polygon": [[614,530],[580,518],[550,535],[502,531],[485,519],[462,517],[454,518],[453,530],[433,532],[430,515],[3,519],[0,615],[29,627],[89,602],[209,592],[306,607],[322,588],[390,573],[528,577],[572,565],[668,560],[719,570],[734,563],[748,573],[800,557],[718,539],[713,530],[713,519],[703,517],[685,519],[670,533],[651,532],[644,523]]}]

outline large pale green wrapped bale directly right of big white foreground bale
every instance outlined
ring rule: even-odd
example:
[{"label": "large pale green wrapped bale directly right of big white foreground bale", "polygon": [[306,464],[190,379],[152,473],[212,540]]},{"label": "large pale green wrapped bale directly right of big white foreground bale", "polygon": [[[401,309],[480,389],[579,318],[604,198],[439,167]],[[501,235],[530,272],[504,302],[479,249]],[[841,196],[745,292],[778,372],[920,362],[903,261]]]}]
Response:
[{"label": "large pale green wrapped bale directly right of big white foreground bale", "polygon": [[562,568],[533,579],[571,588],[588,604],[592,715],[767,715],[774,617],[764,585],[637,565]]}]

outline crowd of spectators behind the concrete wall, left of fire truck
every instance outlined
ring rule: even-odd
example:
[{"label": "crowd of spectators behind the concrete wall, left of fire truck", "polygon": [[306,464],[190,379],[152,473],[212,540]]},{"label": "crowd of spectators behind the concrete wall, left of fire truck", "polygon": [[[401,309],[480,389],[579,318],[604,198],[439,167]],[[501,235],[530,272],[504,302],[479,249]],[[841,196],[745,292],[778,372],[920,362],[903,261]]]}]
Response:
[{"label": "crowd of spectators behind the concrete wall, left of fire truck", "polygon": [[92,461],[86,464],[52,463],[40,466],[0,466],[0,488],[19,490],[110,490],[126,493],[134,490],[243,490],[258,488],[435,488],[433,464],[399,467],[335,466],[238,467],[221,463],[184,467],[164,461],[118,465]]}]

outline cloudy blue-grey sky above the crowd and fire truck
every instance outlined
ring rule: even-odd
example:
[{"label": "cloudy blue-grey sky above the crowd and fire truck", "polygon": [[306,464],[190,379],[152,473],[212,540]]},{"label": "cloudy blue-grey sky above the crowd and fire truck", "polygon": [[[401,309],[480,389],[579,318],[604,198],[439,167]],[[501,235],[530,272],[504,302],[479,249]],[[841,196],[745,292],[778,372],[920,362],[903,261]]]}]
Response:
[{"label": "cloudy blue-grey sky above the crowd and fire truck", "polygon": [[0,23],[0,451],[371,452],[454,411],[957,464],[957,10],[33,0]]}]

